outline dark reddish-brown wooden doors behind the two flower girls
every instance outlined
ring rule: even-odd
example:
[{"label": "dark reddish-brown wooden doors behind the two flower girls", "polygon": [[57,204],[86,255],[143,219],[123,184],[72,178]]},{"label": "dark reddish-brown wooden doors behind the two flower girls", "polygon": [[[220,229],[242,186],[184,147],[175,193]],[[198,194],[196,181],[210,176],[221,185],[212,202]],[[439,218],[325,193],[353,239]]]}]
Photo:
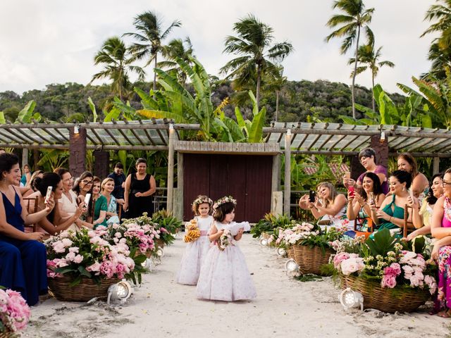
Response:
[{"label": "dark reddish-brown wooden doors behind the two flower girls", "polygon": [[183,219],[199,194],[237,199],[235,220],[257,222],[271,211],[273,156],[183,154]]}]

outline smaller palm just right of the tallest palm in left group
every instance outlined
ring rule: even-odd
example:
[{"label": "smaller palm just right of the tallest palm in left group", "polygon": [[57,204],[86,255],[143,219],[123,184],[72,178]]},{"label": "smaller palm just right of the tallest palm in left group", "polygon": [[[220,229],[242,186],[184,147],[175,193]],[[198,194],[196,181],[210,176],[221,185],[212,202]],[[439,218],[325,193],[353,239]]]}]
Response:
[{"label": "smaller palm just right of the tallest palm in left group", "polygon": [[192,64],[191,58],[194,57],[194,49],[192,48],[192,43],[190,37],[185,37],[182,39],[172,39],[166,46],[161,49],[161,54],[166,61],[161,61],[158,63],[158,68],[164,69],[168,68],[167,73],[175,74],[180,81],[182,86],[185,86],[187,75],[180,68],[177,63],[177,59],[180,58],[188,64]]}]

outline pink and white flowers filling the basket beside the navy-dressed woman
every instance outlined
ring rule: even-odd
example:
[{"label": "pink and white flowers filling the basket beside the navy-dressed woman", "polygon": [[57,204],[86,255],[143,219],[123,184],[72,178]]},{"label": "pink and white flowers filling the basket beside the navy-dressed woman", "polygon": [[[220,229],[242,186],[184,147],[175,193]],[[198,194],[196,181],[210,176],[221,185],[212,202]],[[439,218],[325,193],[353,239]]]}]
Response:
[{"label": "pink and white flowers filling the basket beside the navy-dressed woman", "polygon": [[68,276],[71,286],[82,277],[100,282],[132,273],[135,261],[130,258],[127,238],[121,237],[112,245],[106,239],[104,227],[99,230],[64,231],[45,242],[47,247],[47,277]]}]

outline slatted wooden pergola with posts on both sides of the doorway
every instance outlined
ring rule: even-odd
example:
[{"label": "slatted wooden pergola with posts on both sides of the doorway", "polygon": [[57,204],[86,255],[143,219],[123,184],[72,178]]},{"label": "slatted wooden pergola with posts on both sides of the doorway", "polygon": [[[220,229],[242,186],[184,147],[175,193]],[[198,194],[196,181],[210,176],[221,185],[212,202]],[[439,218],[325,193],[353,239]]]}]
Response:
[{"label": "slatted wooden pergola with posts on both sides of the doorway", "polygon": [[[28,123],[0,125],[0,147],[18,149],[68,149],[73,175],[85,170],[87,149],[94,150],[96,164],[108,168],[107,151],[168,151],[168,210],[173,209],[173,166],[175,144],[180,147],[183,132],[199,130],[197,124],[169,120],[113,120],[110,123]],[[372,146],[382,158],[407,151],[413,156],[433,158],[433,170],[439,171],[440,158],[451,157],[451,131],[396,125],[345,125],[338,123],[272,123],[264,127],[264,143],[275,152],[273,170],[280,168],[280,154],[322,154],[355,156]],[[190,142],[193,144],[193,142]],[[195,142],[194,142],[195,143]],[[249,151],[235,144],[233,151]],[[230,144],[224,146],[230,149]],[[217,144],[214,149],[221,149]],[[212,148],[212,149],[213,149]],[[256,148],[257,149],[257,148]],[[264,148],[262,148],[264,149]],[[275,150],[276,149],[276,150]],[[190,149],[183,149],[190,151]],[[264,151],[264,150],[263,150]],[[278,153],[278,154],[277,154]],[[218,154],[220,151],[218,150]],[[99,162],[99,163],[97,163]],[[285,182],[290,182],[290,161],[285,161]],[[280,189],[273,184],[273,189]],[[283,210],[290,208],[290,187],[283,192]]]}]

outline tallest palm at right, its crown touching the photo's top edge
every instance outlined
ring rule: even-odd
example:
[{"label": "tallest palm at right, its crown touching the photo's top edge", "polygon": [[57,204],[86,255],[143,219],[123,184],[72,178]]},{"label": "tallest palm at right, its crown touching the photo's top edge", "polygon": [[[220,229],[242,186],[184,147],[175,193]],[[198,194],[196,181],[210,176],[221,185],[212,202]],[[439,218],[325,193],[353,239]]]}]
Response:
[{"label": "tallest palm at right, its crown touching the photo's top edge", "polygon": [[[338,30],[333,31],[326,37],[326,42],[334,37],[344,37],[340,51],[341,54],[345,54],[355,42],[355,56],[354,58],[359,61],[359,40],[361,30],[364,28],[368,44],[373,44],[374,37],[373,32],[369,28],[371,23],[371,15],[373,15],[374,8],[365,9],[363,0],[338,0],[333,3],[333,9],[339,8],[343,14],[333,15],[327,22],[328,27],[337,27]],[[356,118],[355,113],[355,77],[357,75],[357,62],[354,63],[354,73],[352,75],[352,117]]]}]

